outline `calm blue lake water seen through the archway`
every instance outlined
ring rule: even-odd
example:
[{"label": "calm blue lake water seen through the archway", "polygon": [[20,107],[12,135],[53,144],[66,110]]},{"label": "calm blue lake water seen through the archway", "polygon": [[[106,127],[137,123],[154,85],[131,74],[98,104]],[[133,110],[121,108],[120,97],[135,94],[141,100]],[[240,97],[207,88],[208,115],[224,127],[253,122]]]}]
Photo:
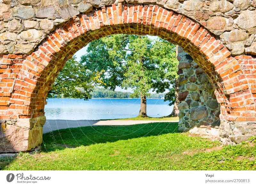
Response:
[{"label": "calm blue lake water seen through the archway", "polygon": [[[140,111],[140,99],[48,99],[45,105],[46,119],[99,120],[136,117]],[[171,114],[173,106],[162,99],[147,99],[147,115],[162,117]]]}]

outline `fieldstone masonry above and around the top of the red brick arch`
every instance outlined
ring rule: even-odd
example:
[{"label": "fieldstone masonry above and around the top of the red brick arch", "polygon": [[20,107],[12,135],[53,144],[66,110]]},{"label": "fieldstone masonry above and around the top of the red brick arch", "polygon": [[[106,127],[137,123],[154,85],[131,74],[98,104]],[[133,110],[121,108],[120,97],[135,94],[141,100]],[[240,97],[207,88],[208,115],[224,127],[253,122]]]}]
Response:
[{"label": "fieldstone masonry above and around the top of the red brick arch", "polygon": [[[124,0],[0,0],[0,54],[30,54],[55,26]],[[232,55],[256,55],[256,0],[125,0],[157,4],[196,20]]]}]

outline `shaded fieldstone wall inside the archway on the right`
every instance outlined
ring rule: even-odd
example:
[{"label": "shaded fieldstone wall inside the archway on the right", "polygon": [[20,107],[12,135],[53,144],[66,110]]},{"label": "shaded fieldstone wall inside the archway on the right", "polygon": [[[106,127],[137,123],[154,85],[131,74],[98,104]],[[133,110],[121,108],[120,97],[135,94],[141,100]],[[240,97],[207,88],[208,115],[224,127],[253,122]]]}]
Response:
[{"label": "shaded fieldstone wall inside the archway on the right", "polygon": [[202,68],[178,46],[179,130],[219,137],[220,104]]}]

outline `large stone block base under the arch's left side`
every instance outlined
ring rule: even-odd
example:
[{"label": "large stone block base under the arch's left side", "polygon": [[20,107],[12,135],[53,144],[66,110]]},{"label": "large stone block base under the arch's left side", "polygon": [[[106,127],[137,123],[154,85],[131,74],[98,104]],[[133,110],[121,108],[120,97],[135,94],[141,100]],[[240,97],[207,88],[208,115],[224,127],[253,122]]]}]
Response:
[{"label": "large stone block base under the arch's left side", "polygon": [[40,146],[45,121],[45,116],[0,120],[0,152],[22,152]]}]

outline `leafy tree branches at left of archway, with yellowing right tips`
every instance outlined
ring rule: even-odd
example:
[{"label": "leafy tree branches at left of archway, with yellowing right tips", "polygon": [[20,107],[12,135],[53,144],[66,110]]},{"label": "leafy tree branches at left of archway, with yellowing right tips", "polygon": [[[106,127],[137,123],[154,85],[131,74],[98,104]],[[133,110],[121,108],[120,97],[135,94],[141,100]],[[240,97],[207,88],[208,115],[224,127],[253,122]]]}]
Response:
[{"label": "leafy tree branches at left of archway, with yellowing right tips", "polygon": [[92,72],[76,57],[68,60],[53,83],[48,97],[68,97],[88,100],[92,98],[91,92],[96,85],[104,84],[99,71]]}]

